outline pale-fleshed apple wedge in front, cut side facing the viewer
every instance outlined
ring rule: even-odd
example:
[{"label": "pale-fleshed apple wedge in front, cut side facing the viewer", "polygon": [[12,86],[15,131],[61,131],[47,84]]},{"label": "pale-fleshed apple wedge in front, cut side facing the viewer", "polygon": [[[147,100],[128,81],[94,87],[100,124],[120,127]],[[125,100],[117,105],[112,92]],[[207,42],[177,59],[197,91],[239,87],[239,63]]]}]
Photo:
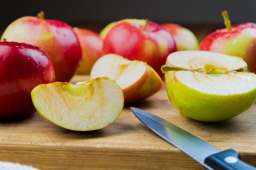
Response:
[{"label": "pale-fleshed apple wedge in front, cut side facing the viewer", "polygon": [[41,116],[76,131],[104,128],[119,117],[124,107],[120,86],[108,77],[79,84],[40,84],[32,90],[31,97]]}]

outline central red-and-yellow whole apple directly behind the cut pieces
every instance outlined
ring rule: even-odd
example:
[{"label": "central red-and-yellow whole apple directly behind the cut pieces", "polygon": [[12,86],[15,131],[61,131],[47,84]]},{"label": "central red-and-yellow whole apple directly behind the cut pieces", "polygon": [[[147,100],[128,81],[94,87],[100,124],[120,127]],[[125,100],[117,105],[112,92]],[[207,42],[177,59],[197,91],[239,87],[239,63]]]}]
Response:
[{"label": "central red-and-yellow whole apple directly behind the cut pieces", "polygon": [[161,77],[161,66],[177,46],[173,36],[159,24],[148,20],[124,19],[108,24],[100,33],[103,55],[115,53],[128,60],[150,65]]}]

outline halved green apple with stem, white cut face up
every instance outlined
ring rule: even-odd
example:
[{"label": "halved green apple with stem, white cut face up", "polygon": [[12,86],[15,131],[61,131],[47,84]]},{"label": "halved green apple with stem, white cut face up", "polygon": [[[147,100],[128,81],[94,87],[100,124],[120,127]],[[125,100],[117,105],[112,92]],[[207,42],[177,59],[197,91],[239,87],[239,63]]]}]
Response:
[{"label": "halved green apple with stem, white cut face up", "polygon": [[210,51],[178,51],[167,57],[168,97],[182,116],[225,121],[256,101],[256,75],[241,57]]}]

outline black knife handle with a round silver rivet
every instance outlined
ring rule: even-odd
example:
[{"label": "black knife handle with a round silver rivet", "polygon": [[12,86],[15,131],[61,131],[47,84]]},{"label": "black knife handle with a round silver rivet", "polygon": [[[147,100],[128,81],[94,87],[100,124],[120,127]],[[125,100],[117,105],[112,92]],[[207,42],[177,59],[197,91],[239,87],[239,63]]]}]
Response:
[{"label": "black knife handle with a round silver rivet", "polygon": [[210,155],[204,163],[214,170],[256,170],[254,166],[241,161],[239,153],[233,149]]}]

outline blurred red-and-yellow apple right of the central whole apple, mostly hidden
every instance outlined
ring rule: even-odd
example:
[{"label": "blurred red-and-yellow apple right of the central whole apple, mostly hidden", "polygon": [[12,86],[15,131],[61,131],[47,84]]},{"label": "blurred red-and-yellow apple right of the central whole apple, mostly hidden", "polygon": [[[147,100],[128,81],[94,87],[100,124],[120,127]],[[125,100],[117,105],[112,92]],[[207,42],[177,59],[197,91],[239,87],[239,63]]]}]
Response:
[{"label": "blurred red-and-yellow apple right of the central whole apple, mostly hidden", "polygon": [[173,35],[177,45],[177,51],[199,49],[198,39],[189,29],[174,23],[164,23],[161,26]]}]

